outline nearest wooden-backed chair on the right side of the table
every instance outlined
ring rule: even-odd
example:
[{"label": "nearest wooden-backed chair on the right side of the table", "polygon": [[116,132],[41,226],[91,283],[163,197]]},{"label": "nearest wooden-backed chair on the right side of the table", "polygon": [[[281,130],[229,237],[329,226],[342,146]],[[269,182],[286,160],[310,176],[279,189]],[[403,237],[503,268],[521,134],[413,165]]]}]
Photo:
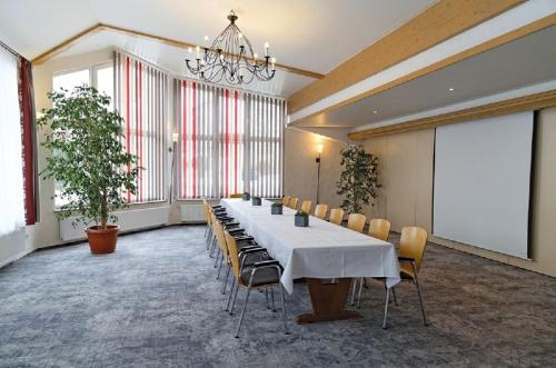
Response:
[{"label": "nearest wooden-backed chair on the right side of the table", "polygon": [[[420,295],[419,280],[417,273],[423,265],[423,257],[425,256],[425,248],[427,247],[427,231],[418,227],[405,227],[401,229],[401,237],[399,239],[398,261],[399,261],[399,276],[401,281],[411,281],[419,297],[420,310],[423,312],[423,322],[428,326],[427,315],[425,314],[425,306]],[[394,300],[396,301],[396,294],[393,288]],[[383,328],[386,328],[386,318],[388,316],[388,302],[390,297],[390,289],[386,289],[386,304],[384,309]]]}]

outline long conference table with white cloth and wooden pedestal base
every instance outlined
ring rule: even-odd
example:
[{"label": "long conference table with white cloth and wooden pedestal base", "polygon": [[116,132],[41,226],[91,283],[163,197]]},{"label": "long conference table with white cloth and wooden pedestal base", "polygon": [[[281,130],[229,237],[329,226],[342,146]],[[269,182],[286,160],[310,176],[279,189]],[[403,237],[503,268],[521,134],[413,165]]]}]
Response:
[{"label": "long conference table with white cloth and wooden pedestal base", "polygon": [[388,288],[400,281],[394,245],[314,216],[308,227],[296,227],[294,209],[271,215],[271,203],[221,200],[228,215],[284,267],[280,281],[288,294],[295,279],[307,280],[312,312],[298,316],[298,324],[359,318],[345,309],[351,278],[384,278]]}]

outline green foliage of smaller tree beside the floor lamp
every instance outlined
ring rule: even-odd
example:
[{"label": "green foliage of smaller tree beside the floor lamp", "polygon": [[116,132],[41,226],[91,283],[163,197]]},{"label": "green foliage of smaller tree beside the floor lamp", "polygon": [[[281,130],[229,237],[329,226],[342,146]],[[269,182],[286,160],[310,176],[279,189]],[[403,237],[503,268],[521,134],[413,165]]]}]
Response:
[{"label": "green foliage of smaller tree beside the floor lamp", "polygon": [[341,208],[348,213],[359,213],[363,205],[373,205],[378,196],[378,158],[359,146],[341,150],[344,171],[336,182],[337,193],[344,196]]}]

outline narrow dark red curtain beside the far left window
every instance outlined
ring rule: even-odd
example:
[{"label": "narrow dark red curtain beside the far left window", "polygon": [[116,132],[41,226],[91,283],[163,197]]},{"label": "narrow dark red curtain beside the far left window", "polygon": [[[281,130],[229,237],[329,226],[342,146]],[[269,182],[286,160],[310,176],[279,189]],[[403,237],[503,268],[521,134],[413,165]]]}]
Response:
[{"label": "narrow dark red curtain beside the far left window", "polygon": [[38,219],[38,173],[37,139],[31,62],[19,58],[19,103],[21,110],[21,142],[23,159],[23,185],[26,191],[26,223],[33,225]]}]

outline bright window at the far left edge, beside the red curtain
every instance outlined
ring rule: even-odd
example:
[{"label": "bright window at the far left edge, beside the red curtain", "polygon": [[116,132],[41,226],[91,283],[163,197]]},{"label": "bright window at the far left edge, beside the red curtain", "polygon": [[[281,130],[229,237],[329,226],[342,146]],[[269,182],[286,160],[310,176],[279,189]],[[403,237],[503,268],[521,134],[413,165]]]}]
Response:
[{"label": "bright window at the far left edge, beside the red curtain", "polygon": [[0,47],[0,236],[26,223],[18,59]]}]

